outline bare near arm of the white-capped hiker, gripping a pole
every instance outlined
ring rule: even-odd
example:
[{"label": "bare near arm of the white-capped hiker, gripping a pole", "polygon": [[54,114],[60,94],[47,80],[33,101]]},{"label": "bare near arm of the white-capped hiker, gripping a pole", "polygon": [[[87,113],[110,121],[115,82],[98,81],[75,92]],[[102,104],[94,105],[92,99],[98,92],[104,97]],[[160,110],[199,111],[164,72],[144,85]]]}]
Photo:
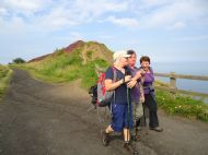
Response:
[{"label": "bare near arm of the white-capped hiker, gripping a pole", "polygon": [[130,75],[126,75],[125,79],[122,79],[119,81],[116,81],[113,83],[113,80],[105,80],[105,90],[106,91],[112,91],[115,90],[116,87],[120,86],[122,84],[130,81],[131,76]]}]

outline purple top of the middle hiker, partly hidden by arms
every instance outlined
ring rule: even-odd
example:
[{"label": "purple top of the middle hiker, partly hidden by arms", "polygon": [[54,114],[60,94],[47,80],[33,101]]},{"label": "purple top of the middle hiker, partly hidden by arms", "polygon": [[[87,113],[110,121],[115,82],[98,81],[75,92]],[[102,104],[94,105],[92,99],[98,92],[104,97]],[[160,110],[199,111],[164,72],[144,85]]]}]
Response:
[{"label": "purple top of the middle hiker, partly hidden by arms", "polygon": [[[135,76],[137,71],[139,70],[138,68],[131,69],[130,67],[129,67],[129,69],[130,69],[132,76]],[[139,84],[137,83],[136,86],[134,86],[131,90],[131,99],[132,99],[132,102],[138,102],[139,97],[140,97],[140,91],[139,91]]]}]

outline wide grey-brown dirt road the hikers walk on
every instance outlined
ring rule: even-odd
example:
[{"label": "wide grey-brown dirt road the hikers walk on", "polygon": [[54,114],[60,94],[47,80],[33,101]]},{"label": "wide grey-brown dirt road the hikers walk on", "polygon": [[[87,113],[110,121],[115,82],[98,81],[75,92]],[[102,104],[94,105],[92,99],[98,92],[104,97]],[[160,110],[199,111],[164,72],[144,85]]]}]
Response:
[{"label": "wide grey-brown dirt road the hikers walk on", "polygon": [[[0,155],[126,155],[114,135],[101,143],[96,111],[79,83],[51,85],[14,70],[10,88],[0,103]],[[140,155],[207,155],[208,124],[169,117],[160,111],[164,132],[141,131]]]}]

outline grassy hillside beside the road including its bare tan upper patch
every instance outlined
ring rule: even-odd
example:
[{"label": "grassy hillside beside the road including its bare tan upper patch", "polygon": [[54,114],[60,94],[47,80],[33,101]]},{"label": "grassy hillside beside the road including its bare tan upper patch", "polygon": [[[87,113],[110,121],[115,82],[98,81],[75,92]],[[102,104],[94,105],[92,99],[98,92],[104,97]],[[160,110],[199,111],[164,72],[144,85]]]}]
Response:
[{"label": "grassy hillside beside the road including its bare tan upper patch", "polygon": [[56,50],[41,61],[15,67],[26,69],[35,78],[47,82],[71,82],[81,79],[81,85],[89,88],[97,80],[95,64],[109,65],[109,62],[105,60],[106,57],[112,59],[112,52],[103,45],[91,41],[70,52],[66,52],[65,49]]}]

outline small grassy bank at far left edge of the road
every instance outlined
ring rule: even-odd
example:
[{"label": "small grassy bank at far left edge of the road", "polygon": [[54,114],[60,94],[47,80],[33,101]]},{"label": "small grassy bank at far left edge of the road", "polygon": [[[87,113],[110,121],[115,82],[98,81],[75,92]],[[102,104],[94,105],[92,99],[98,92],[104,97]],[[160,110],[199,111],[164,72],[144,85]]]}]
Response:
[{"label": "small grassy bank at far left edge of the road", "polygon": [[11,69],[0,64],[0,99],[3,97],[3,94],[7,91],[11,74]]}]

